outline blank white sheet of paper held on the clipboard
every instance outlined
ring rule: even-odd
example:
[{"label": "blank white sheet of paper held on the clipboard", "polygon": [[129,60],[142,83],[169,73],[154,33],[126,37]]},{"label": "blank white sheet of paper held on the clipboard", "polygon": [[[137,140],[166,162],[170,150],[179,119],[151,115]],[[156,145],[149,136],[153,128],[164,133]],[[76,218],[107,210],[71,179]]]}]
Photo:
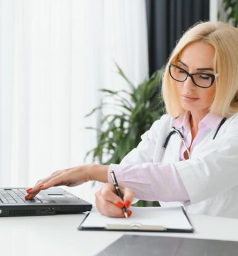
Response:
[{"label": "blank white sheet of paper held on the clipboard", "polygon": [[84,228],[104,228],[107,224],[158,225],[171,229],[191,229],[181,207],[130,207],[132,215],[126,218],[110,218],[93,208],[81,225]]}]

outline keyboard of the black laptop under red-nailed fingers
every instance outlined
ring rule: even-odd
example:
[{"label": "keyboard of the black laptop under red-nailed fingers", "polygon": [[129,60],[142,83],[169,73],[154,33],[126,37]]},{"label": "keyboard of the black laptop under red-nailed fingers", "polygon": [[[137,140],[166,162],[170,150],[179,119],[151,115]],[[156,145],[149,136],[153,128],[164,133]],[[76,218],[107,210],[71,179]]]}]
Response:
[{"label": "keyboard of the black laptop under red-nailed fingers", "polygon": [[27,194],[25,189],[0,189],[0,203],[49,203],[39,194],[32,200],[26,200]]}]

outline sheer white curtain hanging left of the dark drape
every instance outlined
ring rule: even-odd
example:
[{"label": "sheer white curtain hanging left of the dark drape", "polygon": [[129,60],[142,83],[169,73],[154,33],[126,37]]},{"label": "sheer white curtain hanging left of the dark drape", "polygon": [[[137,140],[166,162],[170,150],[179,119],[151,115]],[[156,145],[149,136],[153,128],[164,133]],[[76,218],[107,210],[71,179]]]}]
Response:
[{"label": "sheer white curtain hanging left of the dark drape", "polygon": [[147,51],[144,0],[0,0],[0,187],[84,164],[98,89],[127,88],[114,61],[142,82]]}]

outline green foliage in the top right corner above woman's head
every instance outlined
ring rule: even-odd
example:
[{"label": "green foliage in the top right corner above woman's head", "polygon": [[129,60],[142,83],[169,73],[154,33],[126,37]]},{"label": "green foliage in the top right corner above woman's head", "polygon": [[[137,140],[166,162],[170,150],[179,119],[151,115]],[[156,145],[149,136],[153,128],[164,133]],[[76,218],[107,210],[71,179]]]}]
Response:
[{"label": "green foliage in the top right corner above woman's head", "polygon": [[[226,12],[226,21],[231,22],[234,27],[238,25],[238,1],[237,0],[223,0],[223,8]],[[218,20],[220,20],[221,13],[218,12]]]}]

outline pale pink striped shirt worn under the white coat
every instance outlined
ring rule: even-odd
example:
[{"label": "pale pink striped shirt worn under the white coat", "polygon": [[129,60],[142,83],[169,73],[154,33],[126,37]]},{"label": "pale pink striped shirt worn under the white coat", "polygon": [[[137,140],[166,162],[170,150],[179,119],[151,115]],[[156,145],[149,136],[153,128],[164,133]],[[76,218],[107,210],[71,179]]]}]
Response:
[{"label": "pale pink striped shirt worn under the white coat", "polygon": [[[177,129],[182,128],[185,139],[185,144],[189,148],[192,142],[192,133],[190,127],[190,111],[181,114],[172,122],[172,126]],[[192,152],[196,145],[198,138],[208,129],[215,130],[221,122],[222,117],[208,113],[198,124],[198,133],[194,138],[190,147]],[[182,144],[180,151],[180,161],[184,158],[185,146]],[[135,166],[136,165],[136,166]],[[135,197],[142,200],[160,200],[163,202],[189,202],[190,198],[187,190],[182,183],[181,177],[177,173],[173,164],[159,164],[158,168],[153,168],[151,163],[144,163],[142,165],[131,164],[110,164],[108,170],[108,181],[111,181],[109,171],[114,170],[119,184],[130,187],[133,184]],[[135,174],[136,171],[136,174]],[[156,182],[155,182],[156,180]],[[150,182],[151,181],[151,182]],[[152,182],[153,181],[153,182]],[[148,186],[150,184],[150,186]],[[144,186],[145,189],[136,189],[137,186]],[[143,194],[145,192],[146,195]],[[156,195],[155,195],[156,194]]]}]

